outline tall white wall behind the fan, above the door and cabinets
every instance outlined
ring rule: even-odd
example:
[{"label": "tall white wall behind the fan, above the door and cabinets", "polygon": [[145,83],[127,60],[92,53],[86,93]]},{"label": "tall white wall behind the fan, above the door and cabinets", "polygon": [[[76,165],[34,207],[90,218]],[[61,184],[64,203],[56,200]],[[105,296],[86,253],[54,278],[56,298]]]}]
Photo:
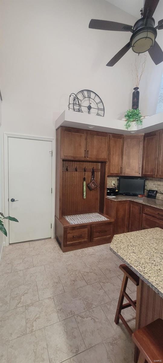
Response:
[{"label": "tall white wall behind the fan, above the door and cabinets", "polygon": [[[83,88],[101,96],[105,117],[119,119],[131,107],[134,53],[130,50],[115,66],[105,66],[131,33],[88,29],[88,24],[91,18],[134,24],[133,16],[105,0],[1,4],[3,131],[53,136],[68,95]],[[140,84],[145,115],[155,114],[161,72],[162,65],[155,66],[148,56]]]}]

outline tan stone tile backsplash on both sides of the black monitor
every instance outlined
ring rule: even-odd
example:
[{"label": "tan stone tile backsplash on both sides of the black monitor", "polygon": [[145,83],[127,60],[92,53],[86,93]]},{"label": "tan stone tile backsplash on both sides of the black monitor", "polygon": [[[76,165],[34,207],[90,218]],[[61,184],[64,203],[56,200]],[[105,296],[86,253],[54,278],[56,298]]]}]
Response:
[{"label": "tan stone tile backsplash on both sides of the black monitor", "polygon": [[[108,176],[107,178],[107,188],[113,187],[112,182],[118,186],[117,176]],[[146,178],[145,183],[145,195],[149,189],[157,190],[156,199],[163,199],[163,179],[162,178]]]}]

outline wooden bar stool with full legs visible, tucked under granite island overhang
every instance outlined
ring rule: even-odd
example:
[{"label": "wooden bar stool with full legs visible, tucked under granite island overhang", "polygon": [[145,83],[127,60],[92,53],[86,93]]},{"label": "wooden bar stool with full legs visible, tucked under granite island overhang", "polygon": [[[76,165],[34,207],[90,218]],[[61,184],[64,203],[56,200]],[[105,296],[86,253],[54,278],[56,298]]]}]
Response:
[{"label": "wooden bar stool with full legs visible, tucked under granite island overhang", "polygon": [[[123,278],[123,281],[122,281],[120,297],[119,297],[119,300],[118,300],[118,305],[117,305],[116,316],[115,316],[114,322],[116,324],[118,324],[119,320],[121,319],[122,323],[124,324],[124,326],[126,327],[128,332],[130,333],[130,335],[132,335],[133,331],[129,327],[129,325],[126,322],[126,320],[124,319],[124,317],[122,317],[121,310],[126,309],[127,307],[130,307],[130,306],[133,306],[133,308],[136,310],[136,300],[133,301],[129,297],[129,295],[126,293],[126,287],[127,287],[128,279],[130,279],[133,282],[134,285],[138,286],[139,285],[139,277],[125,264],[120,265],[120,269],[124,273],[124,278]],[[126,304],[123,304],[124,297],[128,300],[128,302]]]}]

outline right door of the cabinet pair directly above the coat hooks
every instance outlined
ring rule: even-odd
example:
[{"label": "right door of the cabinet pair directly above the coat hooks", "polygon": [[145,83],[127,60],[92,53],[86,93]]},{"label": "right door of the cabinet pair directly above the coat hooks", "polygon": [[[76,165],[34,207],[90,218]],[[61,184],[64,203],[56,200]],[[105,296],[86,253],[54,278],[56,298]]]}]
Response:
[{"label": "right door of the cabinet pair directly above the coat hooks", "polygon": [[108,161],[109,134],[87,131],[87,160]]}]

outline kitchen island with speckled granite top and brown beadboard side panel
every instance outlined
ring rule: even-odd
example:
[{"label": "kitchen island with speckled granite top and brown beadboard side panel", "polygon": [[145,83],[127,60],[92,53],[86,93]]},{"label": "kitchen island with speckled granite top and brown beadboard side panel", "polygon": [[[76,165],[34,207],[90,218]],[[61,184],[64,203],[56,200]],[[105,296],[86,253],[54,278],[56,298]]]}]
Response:
[{"label": "kitchen island with speckled granite top and brown beadboard side panel", "polygon": [[[137,287],[136,329],[163,319],[163,230],[151,228],[117,234],[110,250],[140,278]],[[138,360],[135,347],[134,362]]]}]

